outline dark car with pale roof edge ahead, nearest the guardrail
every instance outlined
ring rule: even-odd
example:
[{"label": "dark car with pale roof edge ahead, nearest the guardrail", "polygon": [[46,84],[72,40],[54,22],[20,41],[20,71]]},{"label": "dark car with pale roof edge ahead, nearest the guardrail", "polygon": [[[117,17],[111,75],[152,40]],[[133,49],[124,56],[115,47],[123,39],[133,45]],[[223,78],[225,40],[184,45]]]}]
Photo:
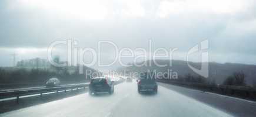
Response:
[{"label": "dark car with pale roof edge ahead, nearest the guardrail", "polygon": [[108,77],[92,78],[89,84],[89,94],[108,92],[114,93],[114,81],[111,81]]}]

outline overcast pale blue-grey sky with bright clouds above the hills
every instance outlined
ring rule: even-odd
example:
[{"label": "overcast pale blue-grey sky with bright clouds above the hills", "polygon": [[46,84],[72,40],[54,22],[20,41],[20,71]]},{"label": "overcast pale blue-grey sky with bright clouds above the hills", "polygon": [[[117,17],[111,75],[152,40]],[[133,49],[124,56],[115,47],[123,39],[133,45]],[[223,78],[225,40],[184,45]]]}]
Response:
[{"label": "overcast pale blue-grey sky with bright clouds above the hills", "polygon": [[[13,53],[46,59],[49,44],[60,39],[134,49],[151,39],[154,48],[178,47],[174,59],[181,60],[208,39],[210,61],[256,64],[254,0],[2,0],[0,16],[0,66],[11,66]],[[102,53],[108,58],[111,49]]]}]

